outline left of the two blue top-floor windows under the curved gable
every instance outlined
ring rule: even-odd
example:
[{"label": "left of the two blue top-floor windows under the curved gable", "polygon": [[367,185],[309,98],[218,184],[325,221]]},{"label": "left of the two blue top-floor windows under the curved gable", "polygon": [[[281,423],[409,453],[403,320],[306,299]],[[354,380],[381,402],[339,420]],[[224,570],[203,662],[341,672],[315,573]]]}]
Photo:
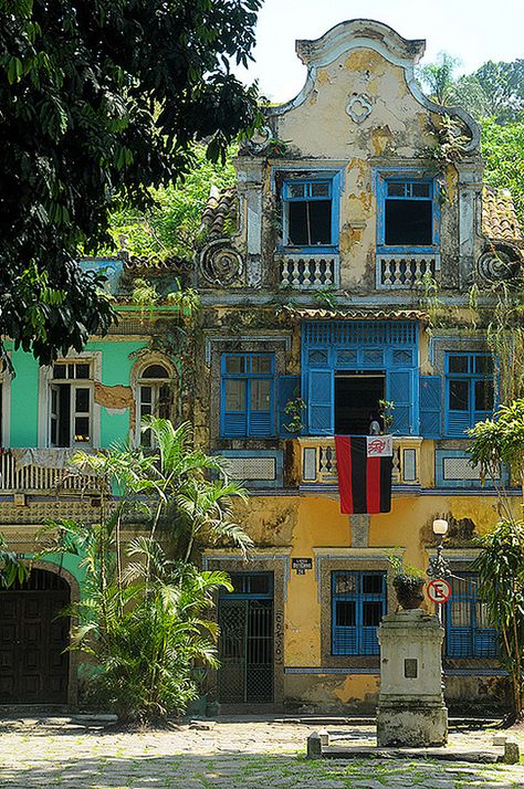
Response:
[{"label": "left of the two blue top-floor windows under the curved gable", "polygon": [[311,252],[338,246],[338,173],[283,182],[283,244]]}]

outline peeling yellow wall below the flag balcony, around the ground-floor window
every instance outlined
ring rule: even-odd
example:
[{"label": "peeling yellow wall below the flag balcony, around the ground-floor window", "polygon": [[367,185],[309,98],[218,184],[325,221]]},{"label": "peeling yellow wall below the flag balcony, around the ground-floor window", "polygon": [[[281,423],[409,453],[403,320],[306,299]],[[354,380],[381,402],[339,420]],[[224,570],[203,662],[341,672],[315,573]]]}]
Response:
[{"label": "peeling yellow wall below the flag balcony, around the ground-floor window", "polygon": [[[476,530],[483,534],[496,523],[496,498],[489,495],[394,495],[390,513],[370,516],[369,548],[376,548],[374,555],[384,555],[384,559],[391,548],[402,548],[405,560],[425,570],[429,560],[427,548],[434,546],[432,520],[443,515],[471,518]],[[314,564],[315,549],[333,547],[336,554],[352,547],[349,516],[340,514],[336,495],[285,498],[253,495],[248,505],[239,508],[238,517],[258,547],[291,547],[291,559],[310,557]],[[303,576],[292,571],[289,579],[284,663],[289,666],[322,665],[321,603],[315,568]],[[373,681],[367,675],[360,678],[363,688],[366,682]],[[353,675],[347,677],[340,690],[337,678],[338,698],[342,699],[349,687],[350,694],[355,695],[356,686],[352,684],[355,680]],[[364,698],[364,694],[363,690],[359,697]]]}]

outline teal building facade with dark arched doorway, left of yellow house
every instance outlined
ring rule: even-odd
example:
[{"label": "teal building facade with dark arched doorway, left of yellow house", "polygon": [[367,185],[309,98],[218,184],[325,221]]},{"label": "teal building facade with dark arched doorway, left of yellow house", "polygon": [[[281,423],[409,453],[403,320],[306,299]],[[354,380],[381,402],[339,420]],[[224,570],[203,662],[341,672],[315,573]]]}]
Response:
[{"label": "teal building facade with dark arched doorway, left of yellow house", "polygon": [[[118,326],[50,367],[12,351],[15,375],[2,376],[0,533],[28,559],[44,549],[39,533],[48,520],[99,522],[105,482],[71,463],[78,450],[147,445],[144,414],[181,418],[179,358],[166,328],[178,325],[178,311],[129,304],[123,294],[135,274],[150,272],[120,257],[82,263],[119,293]],[[77,703],[78,654],[64,651],[70,622],[56,614],[85,593],[81,560],[45,555],[32,561],[27,583],[0,592],[0,704]]]}]

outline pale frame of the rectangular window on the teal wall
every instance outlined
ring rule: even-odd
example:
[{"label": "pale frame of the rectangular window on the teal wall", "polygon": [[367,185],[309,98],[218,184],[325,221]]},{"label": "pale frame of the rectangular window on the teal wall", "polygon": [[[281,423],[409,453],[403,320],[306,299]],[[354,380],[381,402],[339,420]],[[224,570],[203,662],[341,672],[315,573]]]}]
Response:
[{"label": "pale frame of the rectangular window on the teal wall", "polygon": [[[91,377],[88,379],[78,379],[78,386],[76,386],[76,379],[63,379],[64,381],[72,385],[72,392],[75,388],[86,389],[90,388],[91,397],[91,436],[92,440],[87,442],[74,442],[70,443],[70,449],[98,449],[101,445],[101,407],[95,401],[95,381],[102,379],[102,351],[82,351],[80,354],[70,353],[67,356],[56,359],[57,364],[67,364],[74,361],[85,361],[91,365]],[[62,379],[60,379],[62,380]],[[52,389],[53,387],[61,386],[56,383],[53,378],[53,365],[48,367],[41,367],[39,370],[39,448],[52,448],[51,444],[51,402],[52,402]],[[73,399],[73,393],[72,393]],[[71,435],[74,435],[74,409],[71,410]],[[81,413],[80,415],[84,415]],[[56,448],[56,449],[67,449]]]}]

